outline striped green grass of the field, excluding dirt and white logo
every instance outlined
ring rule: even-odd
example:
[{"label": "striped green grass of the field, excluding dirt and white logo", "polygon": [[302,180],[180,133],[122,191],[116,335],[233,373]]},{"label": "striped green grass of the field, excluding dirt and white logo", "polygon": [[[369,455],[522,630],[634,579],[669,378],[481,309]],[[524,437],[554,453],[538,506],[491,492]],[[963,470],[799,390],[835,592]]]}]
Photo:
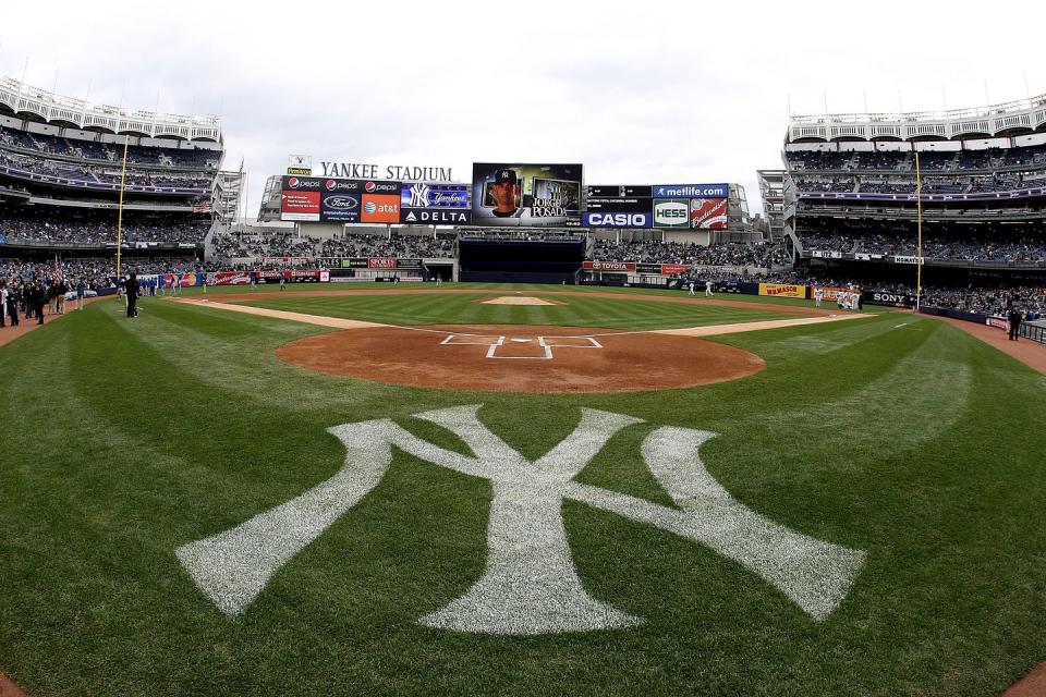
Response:
[{"label": "striped green grass of the field, excluding dirt and white logo", "polygon": [[[499,289],[471,290],[265,289],[252,302],[404,325],[782,317],[755,298],[730,297],[751,309],[605,297],[503,307],[471,302]],[[102,301],[0,347],[0,671],[36,697],[980,697],[1046,658],[1046,379],[941,322],[878,313],[732,334],[717,341],[758,354],[764,371],[686,390],[536,395],[311,372],[275,350],[324,328],[161,299],[142,307],[127,320]],[[471,404],[530,460],[567,438],[582,407],[643,419],[574,481],[661,511],[680,504],[644,464],[644,439],[664,426],[713,431],[701,460],[735,501],[861,550],[863,563],[815,619],[727,555],[567,499],[584,590],[642,624],[533,636],[425,626],[484,575],[495,491],[400,447],[380,481],[239,615],[221,612],[175,554],[331,478],[346,451],[328,428],[392,419],[470,454],[414,415]]]}]

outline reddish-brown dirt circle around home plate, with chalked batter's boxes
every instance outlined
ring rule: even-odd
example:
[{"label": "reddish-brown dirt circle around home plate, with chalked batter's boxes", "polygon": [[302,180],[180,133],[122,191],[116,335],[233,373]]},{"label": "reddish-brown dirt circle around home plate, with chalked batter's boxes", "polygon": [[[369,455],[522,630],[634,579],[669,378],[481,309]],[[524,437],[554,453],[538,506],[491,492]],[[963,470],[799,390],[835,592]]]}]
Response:
[{"label": "reddish-brown dirt circle around home plate, with chalked batter's boxes", "polygon": [[353,329],[292,341],[277,355],[361,380],[495,392],[667,390],[766,367],[747,351],[693,337],[508,325]]}]

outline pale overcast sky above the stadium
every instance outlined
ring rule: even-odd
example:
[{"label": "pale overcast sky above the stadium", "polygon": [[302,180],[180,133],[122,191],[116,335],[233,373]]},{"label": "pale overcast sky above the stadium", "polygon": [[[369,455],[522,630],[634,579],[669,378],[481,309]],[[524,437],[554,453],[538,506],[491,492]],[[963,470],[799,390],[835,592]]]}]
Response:
[{"label": "pale overcast sky above the stadium", "polygon": [[755,170],[780,167],[789,100],[793,113],[914,111],[1042,94],[1044,8],[7,2],[0,72],[218,114],[252,217],[289,154],[462,181],[473,161],[582,162],[589,184],[739,182],[759,210]]}]

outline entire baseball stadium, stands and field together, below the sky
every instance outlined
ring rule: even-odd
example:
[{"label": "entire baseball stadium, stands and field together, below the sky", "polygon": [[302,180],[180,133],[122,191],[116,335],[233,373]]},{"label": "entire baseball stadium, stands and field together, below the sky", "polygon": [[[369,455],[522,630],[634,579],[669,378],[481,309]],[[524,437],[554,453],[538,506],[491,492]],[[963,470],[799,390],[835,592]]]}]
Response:
[{"label": "entire baseball stadium, stands and field together, below the sky", "polygon": [[780,125],[245,210],[0,78],[0,696],[1046,695],[1046,96]]}]

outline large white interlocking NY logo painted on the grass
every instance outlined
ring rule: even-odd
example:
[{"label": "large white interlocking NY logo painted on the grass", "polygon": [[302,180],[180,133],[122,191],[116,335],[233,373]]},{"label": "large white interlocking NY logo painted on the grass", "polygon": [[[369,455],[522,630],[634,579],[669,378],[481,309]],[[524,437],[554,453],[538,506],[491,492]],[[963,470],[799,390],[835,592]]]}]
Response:
[{"label": "large white interlocking NY logo painted on the grass", "polygon": [[734,500],[701,462],[698,449],[715,433],[662,427],[643,441],[643,461],[674,501],[677,508],[670,508],[573,480],[615,433],[641,419],[583,408],[577,428],[531,462],[479,421],[478,408],[416,415],[457,433],[474,456],[434,445],[390,419],[329,429],[348,451],[338,474],[238,527],[179,548],[179,560],[222,612],[242,613],[280,567],[378,485],[396,445],[494,487],[486,570],[464,595],[419,619],[431,627],[547,634],[640,624],[640,617],[585,591],[563,527],[563,499],[703,545],[817,620],[842,601],[864,561],[862,551],[790,530]]}]

